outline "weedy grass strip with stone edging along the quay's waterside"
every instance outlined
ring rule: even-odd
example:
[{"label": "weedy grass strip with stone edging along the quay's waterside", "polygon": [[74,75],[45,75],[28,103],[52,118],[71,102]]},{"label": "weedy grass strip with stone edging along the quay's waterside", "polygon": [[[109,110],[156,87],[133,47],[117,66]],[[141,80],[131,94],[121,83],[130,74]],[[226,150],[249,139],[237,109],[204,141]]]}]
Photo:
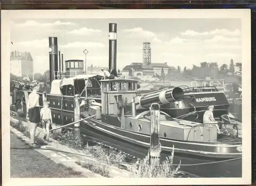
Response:
[{"label": "weedy grass strip with stone edging along the quay's waterside", "polygon": [[[10,125],[29,137],[29,122],[24,118],[24,115],[14,111],[11,111],[10,115]],[[161,165],[153,166],[150,164],[149,155],[136,163],[129,163],[125,161],[125,153],[96,142],[91,145],[86,136],[77,137],[74,130],[57,129],[53,131],[50,133],[50,143],[44,141],[42,136],[44,136],[43,130],[37,127],[37,143],[40,145],[57,145],[61,147],[62,152],[71,152],[77,157],[77,161],[75,161],[77,165],[103,177],[168,178],[183,175],[179,171],[179,166],[174,168],[172,165],[174,151]]]}]

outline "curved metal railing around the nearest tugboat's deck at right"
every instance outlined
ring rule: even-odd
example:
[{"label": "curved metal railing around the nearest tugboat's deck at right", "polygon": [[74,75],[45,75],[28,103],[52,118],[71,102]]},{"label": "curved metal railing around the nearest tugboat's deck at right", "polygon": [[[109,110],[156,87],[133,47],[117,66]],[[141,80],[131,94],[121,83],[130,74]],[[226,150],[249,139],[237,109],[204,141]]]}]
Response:
[{"label": "curved metal railing around the nearest tugboat's deck at right", "polygon": [[[234,121],[234,122],[236,122],[236,121]],[[224,125],[224,128],[222,128],[222,127],[220,128],[220,131],[221,131],[222,134],[226,134],[226,135],[228,135],[228,127],[227,127],[227,125],[231,125],[233,127],[233,129],[236,130],[236,134],[234,134],[234,136],[239,137],[239,127],[238,127],[239,123],[231,123],[231,122],[230,123],[226,123],[226,122],[223,122],[223,121],[219,121],[217,123],[206,123],[206,124],[199,123],[197,125],[193,125],[189,129],[189,131],[188,131],[186,140],[188,141],[189,134],[190,134],[191,130],[194,129],[195,127],[198,127],[198,126],[209,126],[210,127],[211,125],[215,125],[215,126],[216,125],[221,125],[221,126]],[[208,131],[210,132],[210,129],[208,129]]]}]

